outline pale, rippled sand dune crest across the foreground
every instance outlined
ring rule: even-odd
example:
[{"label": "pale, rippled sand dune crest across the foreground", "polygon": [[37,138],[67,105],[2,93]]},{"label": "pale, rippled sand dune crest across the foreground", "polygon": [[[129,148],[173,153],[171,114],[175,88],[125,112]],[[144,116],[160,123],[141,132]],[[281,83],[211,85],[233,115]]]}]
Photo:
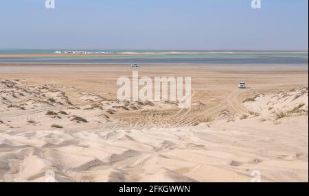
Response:
[{"label": "pale, rippled sand dune crest across the foreground", "polygon": [[[269,182],[308,180],[307,127],[230,123],[179,129],[1,132],[1,179],[61,182],[250,182],[260,170]],[[250,126],[251,125],[251,126]],[[279,127],[277,127],[279,126]],[[214,125],[214,127],[216,127]],[[280,129],[281,136],[264,134]],[[291,136],[297,134],[291,141]],[[299,145],[301,143],[301,145]],[[253,145],[254,144],[254,145]]]}]

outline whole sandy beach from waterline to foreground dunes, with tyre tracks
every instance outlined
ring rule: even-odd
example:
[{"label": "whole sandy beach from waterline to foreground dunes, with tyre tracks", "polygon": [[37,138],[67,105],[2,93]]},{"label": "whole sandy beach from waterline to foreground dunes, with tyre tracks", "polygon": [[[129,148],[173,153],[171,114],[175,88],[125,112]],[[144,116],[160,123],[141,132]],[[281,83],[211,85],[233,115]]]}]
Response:
[{"label": "whole sandy beach from waterline to foreground dunes, with tyre tracks", "polygon": [[[308,182],[308,66],[143,64],[192,107],[119,101],[116,64],[0,64],[0,180]],[[238,82],[247,82],[238,89]]]}]

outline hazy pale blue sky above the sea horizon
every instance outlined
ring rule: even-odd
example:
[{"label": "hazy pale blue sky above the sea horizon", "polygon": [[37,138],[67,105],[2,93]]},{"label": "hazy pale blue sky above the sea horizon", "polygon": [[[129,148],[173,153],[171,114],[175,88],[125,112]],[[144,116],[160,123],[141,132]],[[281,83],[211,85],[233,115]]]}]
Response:
[{"label": "hazy pale blue sky above the sea horizon", "polygon": [[0,49],[305,49],[308,0],[10,0]]}]

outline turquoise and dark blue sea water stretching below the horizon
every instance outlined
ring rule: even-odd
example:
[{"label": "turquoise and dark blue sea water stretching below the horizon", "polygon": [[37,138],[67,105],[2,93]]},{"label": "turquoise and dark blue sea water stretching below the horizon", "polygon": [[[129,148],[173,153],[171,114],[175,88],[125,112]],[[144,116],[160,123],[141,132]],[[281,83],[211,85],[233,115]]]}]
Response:
[{"label": "turquoise and dark blue sea water stretching below the horizon", "polygon": [[[54,56],[55,51],[113,52],[121,55]],[[126,53],[130,52],[130,54]],[[176,52],[176,53],[172,53]],[[0,63],[231,63],[231,64],[308,64],[308,51],[154,51],[154,50],[0,50],[0,54],[43,54],[41,57],[5,58]],[[134,53],[134,54],[132,54]]]}]

